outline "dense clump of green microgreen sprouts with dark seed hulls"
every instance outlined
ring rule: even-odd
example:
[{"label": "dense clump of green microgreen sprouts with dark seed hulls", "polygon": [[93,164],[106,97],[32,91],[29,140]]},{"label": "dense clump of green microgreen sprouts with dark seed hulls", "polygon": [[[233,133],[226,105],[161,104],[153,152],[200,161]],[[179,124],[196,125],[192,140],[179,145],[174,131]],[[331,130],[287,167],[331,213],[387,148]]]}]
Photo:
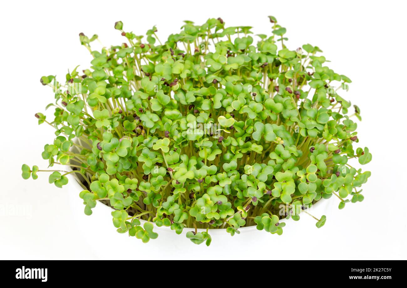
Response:
[{"label": "dense clump of green microgreen sprouts with dark seed hulls", "polygon": [[[81,33],[90,68],[63,82],[41,77],[54,89],[55,118],[35,114],[57,136],[42,157],[72,171],[24,164],[22,177],[49,171],[61,188],[74,175],[85,214],[105,200],[117,231],[144,243],[158,237],[152,222],[177,234],[194,228],[186,237],[210,245],[210,229],[281,235],[281,219],[310,214],[304,205],[332,195],[339,209],[362,201],[370,172],[348,160],[365,165],[372,154],[358,147],[351,118],[361,119],[360,108],[349,113],[343,98],[351,80],[317,46],[290,50],[286,28],[269,19],[270,36],[211,18],[186,21],[164,42],[155,26],[144,38],[118,21],[123,43],[101,51],[91,47],[97,35]],[[311,217],[318,228],[326,222]]]}]

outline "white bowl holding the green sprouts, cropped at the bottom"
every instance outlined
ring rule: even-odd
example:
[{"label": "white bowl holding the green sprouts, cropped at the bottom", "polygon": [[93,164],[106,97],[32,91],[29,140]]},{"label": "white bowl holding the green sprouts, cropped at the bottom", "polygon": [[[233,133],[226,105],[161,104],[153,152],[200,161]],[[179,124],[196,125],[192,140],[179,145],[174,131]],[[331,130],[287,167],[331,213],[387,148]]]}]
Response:
[{"label": "white bowl holding the green sprouts, cropped at the bottom", "polygon": [[[158,238],[142,243],[140,239],[131,237],[127,233],[116,232],[112,222],[112,208],[99,201],[92,209],[92,215],[85,215],[83,200],[79,198],[83,188],[73,177],[70,177],[67,188],[71,190],[69,199],[72,217],[81,231],[83,245],[87,245],[92,250],[96,259],[250,259],[252,252],[262,253],[265,248],[266,250],[263,251],[265,258],[269,258],[267,255],[270,254],[278,259],[278,256],[286,255],[283,253],[284,249],[279,247],[287,246],[287,237],[300,237],[300,240],[307,234],[319,230],[315,227],[316,221],[302,213],[301,220],[298,221],[301,223],[293,220],[286,221],[287,225],[283,228],[284,232],[281,236],[259,231],[256,226],[241,227],[239,228],[241,233],[234,236],[230,236],[226,229],[211,229],[209,234],[212,237],[212,243],[208,247],[205,243],[196,245],[186,238],[186,232],[193,231],[192,228],[184,228],[182,234],[178,235],[170,227],[157,227],[154,224],[153,231],[158,233]],[[326,204],[332,203],[332,201],[324,202],[324,205],[317,205],[319,216],[327,209]]]}]

